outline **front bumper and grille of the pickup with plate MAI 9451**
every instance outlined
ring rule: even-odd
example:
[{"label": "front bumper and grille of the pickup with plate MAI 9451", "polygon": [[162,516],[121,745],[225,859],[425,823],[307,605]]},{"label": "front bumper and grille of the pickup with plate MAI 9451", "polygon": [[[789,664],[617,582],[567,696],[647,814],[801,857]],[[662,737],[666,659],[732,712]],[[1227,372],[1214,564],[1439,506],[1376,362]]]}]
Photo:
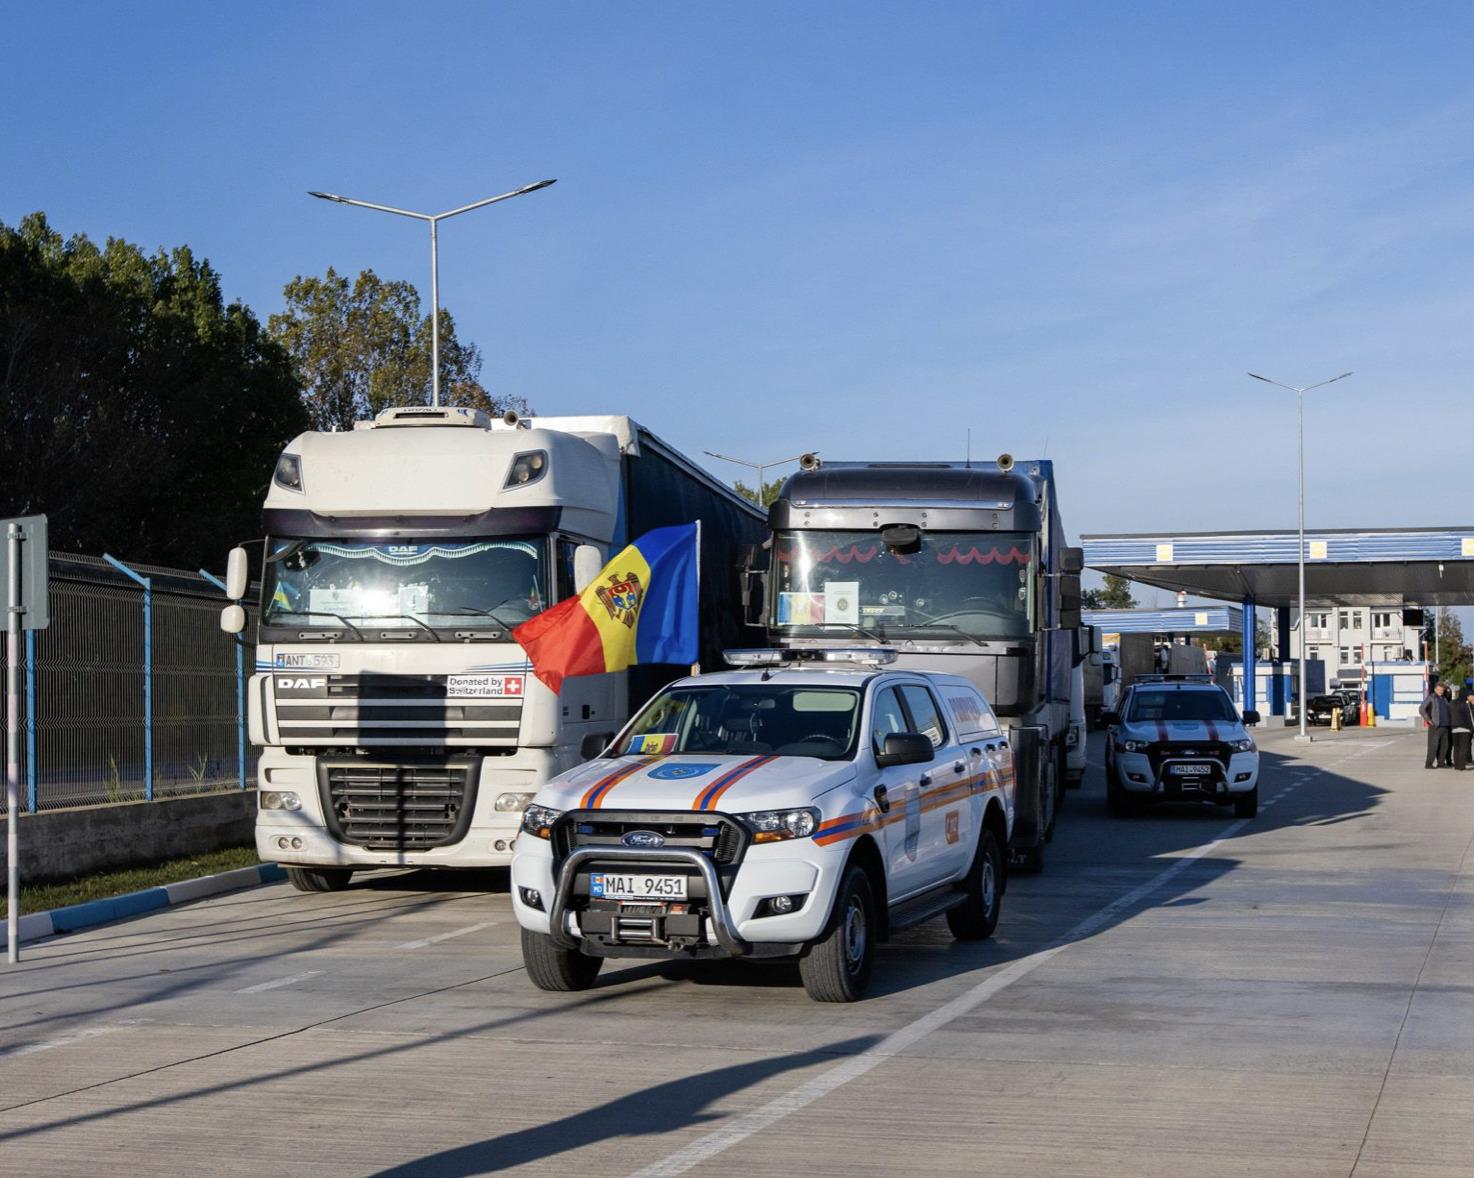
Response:
[{"label": "front bumper and grille of the pickup with plate MAI 9451", "polygon": [[[634,833],[663,842],[625,845]],[[519,837],[511,902],[525,929],[595,957],[781,957],[824,930],[837,888],[828,858],[811,839],[755,846],[727,814],[570,811],[550,839]],[[610,899],[595,876],[680,876],[685,895]]]}]

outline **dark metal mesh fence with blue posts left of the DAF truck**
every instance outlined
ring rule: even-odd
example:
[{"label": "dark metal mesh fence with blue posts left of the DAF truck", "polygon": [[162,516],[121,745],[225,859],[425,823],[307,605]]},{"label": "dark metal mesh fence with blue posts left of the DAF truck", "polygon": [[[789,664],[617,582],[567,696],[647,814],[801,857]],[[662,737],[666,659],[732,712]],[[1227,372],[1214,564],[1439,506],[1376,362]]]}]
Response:
[{"label": "dark metal mesh fence with blue posts left of the DAF truck", "polygon": [[50,625],[22,650],[22,808],[245,789],[248,661],[220,630],[220,587],[62,553],[49,574]]}]

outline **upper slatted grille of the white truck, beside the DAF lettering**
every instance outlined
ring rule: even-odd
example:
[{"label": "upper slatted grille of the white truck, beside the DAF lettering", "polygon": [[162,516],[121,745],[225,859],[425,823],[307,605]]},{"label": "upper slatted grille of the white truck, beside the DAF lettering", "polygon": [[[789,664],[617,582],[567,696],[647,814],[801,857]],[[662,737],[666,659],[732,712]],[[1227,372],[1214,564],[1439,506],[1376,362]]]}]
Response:
[{"label": "upper slatted grille of the white truck, beside the DAF lettering", "polygon": [[516,745],[526,675],[500,697],[450,697],[445,675],[299,675],[274,672],[283,745],[445,747]]}]

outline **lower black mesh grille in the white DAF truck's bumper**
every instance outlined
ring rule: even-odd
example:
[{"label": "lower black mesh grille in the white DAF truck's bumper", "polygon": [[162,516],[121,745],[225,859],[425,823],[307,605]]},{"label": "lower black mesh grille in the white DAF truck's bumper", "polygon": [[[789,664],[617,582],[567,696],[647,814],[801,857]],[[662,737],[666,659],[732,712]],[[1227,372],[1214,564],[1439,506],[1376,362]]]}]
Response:
[{"label": "lower black mesh grille in the white DAF truck's bumper", "polygon": [[321,764],[333,837],[368,851],[426,851],[460,842],[476,802],[475,762]]}]

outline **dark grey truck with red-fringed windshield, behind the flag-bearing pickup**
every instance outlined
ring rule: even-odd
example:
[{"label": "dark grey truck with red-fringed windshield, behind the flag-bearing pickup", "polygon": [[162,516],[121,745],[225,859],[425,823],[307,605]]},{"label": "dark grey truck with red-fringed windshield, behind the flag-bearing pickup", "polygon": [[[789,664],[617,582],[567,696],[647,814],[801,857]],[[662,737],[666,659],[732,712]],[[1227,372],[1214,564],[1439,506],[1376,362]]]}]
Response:
[{"label": "dark grey truck with red-fringed windshield, behind the flag-bearing pickup", "polygon": [[1047,460],[820,463],[768,513],[769,640],[892,647],[974,683],[1010,730],[1010,851],[1044,865],[1067,776],[1082,553]]}]

